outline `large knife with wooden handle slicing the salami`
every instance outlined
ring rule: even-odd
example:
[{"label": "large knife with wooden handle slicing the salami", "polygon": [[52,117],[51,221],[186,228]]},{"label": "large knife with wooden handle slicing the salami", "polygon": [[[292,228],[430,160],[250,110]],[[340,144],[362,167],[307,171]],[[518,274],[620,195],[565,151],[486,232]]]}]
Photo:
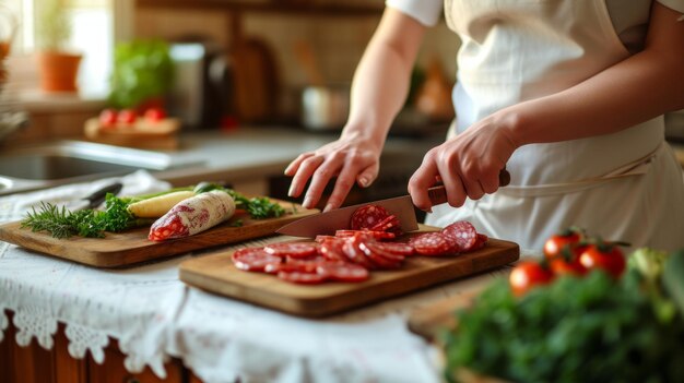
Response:
[{"label": "large knife with wooden handle slicing the salami", "polygon": [[[499,175],[499,185],[505,187],[510,182],[510,175],[506,169],[503,169]],[[427,190],[427,195],[433,206],[440,205],[447,202],[447,192],[444,185],[433,187]],[[393,214],[399,218],[401,229],[403,231],[417,230],[418,223],[415,218],[415,208],[410,195],[396,196],[393,199],[374,201],[368,203],[362,203],[358,205],[346,206],[337,208],[330,212],[320,213],[297,219],[291,224],[287,224],[275,232],[294,236],[294,237],[309,237],[314,238],[318,235],[334,235],[335,230],[349,228],[352,214],[365,205],[379,205],[385,207],[390,214]]]}]

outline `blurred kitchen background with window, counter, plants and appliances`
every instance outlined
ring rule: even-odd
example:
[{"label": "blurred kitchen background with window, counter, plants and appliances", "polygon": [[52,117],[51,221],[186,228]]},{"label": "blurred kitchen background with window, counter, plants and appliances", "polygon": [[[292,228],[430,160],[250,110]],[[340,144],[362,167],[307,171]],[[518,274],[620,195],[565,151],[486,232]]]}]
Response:
[{"label": "blurred kitchen background with window, counter, plants and appliances", "polygon": [[[7,153],[16,147],[96,142],[107,145],[101,152],[114,145],[139,151],[131,156],[166,156],[166,165],[148,168],[176,184],[221,180],[283,199],[284,166],[333,140],[343,125],[354,69],[384,9],[384,0],[0,4],[0,161],[14,160]],[[373,188],[354,190],[347,203],[405,193],[423,154],[443,140],[453,117],[458,45],[444,20],[428,32],[380,177]],[[117,115],[103,120],[106,109]],[[122,110],[133,110],[133,120]],[[683,113],[668,122],[671,140],[684,140]],[[78,157],[75,152],[63,156]],[[46,187],[46,178],[51,185],[149,165],[108,160],[122,167],[104,171],[82,161],[82,170],[64,175],[32,172],[22,161],[12,163],[14,170],[0,165],[0,193]]]}]

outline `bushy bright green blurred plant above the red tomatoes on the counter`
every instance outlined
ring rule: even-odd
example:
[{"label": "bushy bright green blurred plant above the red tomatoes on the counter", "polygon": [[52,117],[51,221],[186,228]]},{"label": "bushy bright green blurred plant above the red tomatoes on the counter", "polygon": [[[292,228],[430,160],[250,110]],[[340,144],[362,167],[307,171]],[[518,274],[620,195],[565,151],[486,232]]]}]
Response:
[{"label": "bushy bright green blurred plant above the red tomatoes on the counter", "polygon": [[173,79],[168,44],[157,40],[120,43],[114,53],[109,104],[118,109],[161,107]]}]

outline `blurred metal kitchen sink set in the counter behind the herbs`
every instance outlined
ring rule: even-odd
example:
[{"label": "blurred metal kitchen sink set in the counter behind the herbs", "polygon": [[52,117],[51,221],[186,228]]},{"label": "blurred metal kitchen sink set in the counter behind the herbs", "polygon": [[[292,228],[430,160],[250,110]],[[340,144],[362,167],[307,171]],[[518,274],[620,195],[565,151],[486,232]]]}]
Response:
[{"label": "blurred metal kitchen sink set in the counter behind the herbs", "polygon": [[0,195],[180,165],[165,153],[81,141],[1,148]]}]

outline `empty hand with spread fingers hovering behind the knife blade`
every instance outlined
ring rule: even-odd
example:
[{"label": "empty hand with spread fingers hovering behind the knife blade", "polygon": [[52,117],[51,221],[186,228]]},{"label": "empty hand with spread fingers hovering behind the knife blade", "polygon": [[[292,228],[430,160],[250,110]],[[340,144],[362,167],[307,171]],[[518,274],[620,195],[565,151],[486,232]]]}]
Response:
[{"label": "empty hand with spread fingers hovering behind the knife blade", "polygon": [[312,208],[320,201],[328,182],[337,176],[334,189],[323,211],[338,208],[355,182],[362,188],[373,183],[380,168],[381,152],[382,145],[368,137],[343,134],[314,152],[300,154],[285,169],[285,176],[293,177],[287,195],[302,195],[310,179],[303,206]]}]

